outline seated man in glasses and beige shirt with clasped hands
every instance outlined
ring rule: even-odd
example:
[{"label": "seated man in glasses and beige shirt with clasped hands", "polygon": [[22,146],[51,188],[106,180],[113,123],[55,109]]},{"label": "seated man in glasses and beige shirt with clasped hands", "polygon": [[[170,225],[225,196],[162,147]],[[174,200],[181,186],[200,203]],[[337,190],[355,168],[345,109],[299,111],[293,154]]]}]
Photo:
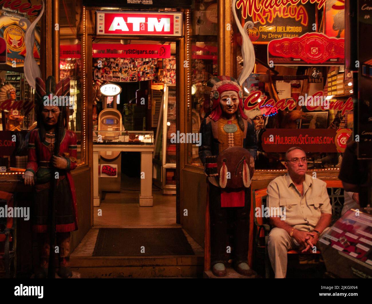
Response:
[{"label": "seated man in glasses and beige shirt with clasped hands", "polygon": [[275,278],[286,276],[288,250],[311,252],[320,235],[328,229],[332,216],[325,182],[306,174],[305,151],[299,147],[289,148],[284,165],[288,173],[276,177],[267,186],[269,210],[280,207],[285,215],[270,216],[275,228],[269,233],[268,252]]}]

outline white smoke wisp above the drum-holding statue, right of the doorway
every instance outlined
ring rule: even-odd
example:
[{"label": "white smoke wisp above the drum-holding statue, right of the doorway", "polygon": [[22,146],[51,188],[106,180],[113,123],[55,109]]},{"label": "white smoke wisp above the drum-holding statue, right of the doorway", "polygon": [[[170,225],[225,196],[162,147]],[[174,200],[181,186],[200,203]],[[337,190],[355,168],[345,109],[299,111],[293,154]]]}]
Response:
[{"label": "white smoke wisp above the drum-holding statue, right of the doorway", "polygon": [[248,76],[252,73],[254,64],[256,63],[256,56],[254,55],[254,47],[253,43],[249,39],[247,29],[253,28],[254,24],[251,21],[248,21],[244,24],[244,28],[241,26],[239,18],[236,13],[236,0],[232,0],[232,14],[234,15],[235,23],[239,29],[241,38],[242,38],[242,46],[241,46],[241,55],[243,57],[243,70],[241,71],[238,81],[240,85],[243,85],[244,81],[248,78]]}]

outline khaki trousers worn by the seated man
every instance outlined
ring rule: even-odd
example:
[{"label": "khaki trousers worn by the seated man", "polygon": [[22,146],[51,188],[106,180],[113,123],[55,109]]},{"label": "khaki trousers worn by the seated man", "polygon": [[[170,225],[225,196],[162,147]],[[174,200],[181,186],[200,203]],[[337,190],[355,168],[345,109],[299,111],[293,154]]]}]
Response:
[{"label": "khaki trousers worn by the seated man", "polygon": [[[325,228],[325,233],[329,228]],[[323,235],[322,233],[322,235]],[[275,272],[275,278],[285,278],[287,274],[287,252],[291,249],[298,249],[299,243],[289,236],[288,232],[281,228],[273,228],[269,233],[267,251],[271,266]]]}]

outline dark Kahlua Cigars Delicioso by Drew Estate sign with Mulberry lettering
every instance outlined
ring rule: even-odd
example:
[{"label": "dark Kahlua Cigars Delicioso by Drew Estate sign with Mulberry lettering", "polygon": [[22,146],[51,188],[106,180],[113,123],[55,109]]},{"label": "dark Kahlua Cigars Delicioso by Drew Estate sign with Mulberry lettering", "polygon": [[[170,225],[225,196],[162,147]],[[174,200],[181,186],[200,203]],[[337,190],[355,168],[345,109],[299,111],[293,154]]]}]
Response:
[{"label": "dark Kahlua Cigars Delicioso by Drew Estate sign with Mulberry lettering", "polygon": [[252,43],[266,44],[272,39],[314,32],[315,9],[324,3],[325,0],[238,0],[236,7],[245,21],[254,23],[248,31]]}]

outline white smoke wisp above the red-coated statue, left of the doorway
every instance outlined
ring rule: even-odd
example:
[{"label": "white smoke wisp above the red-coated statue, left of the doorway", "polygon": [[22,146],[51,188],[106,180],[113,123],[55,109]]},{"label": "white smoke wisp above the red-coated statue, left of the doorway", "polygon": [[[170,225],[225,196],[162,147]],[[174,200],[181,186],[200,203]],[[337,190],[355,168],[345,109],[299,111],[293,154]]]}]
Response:
[{"label": "white smoke wisp above the red-coated statue, left of the doorway", "polygon": [[39,22],[41,16],[44,13],[44,0],[42,0],[43,6],[39,16],[32,22],[26,18],[19,20],[19,26],[23,27],[27,25],[26,34],[25,34],[25,45],[26,45],[26,57],[25,57],[25,66],[23,72],[25,73],[25,78],[29,85],[35,89],[36,88],[36,77],[41,77],[41,71],[38,63],[33,57],[33,45],[35,43],[35,27]]}]

